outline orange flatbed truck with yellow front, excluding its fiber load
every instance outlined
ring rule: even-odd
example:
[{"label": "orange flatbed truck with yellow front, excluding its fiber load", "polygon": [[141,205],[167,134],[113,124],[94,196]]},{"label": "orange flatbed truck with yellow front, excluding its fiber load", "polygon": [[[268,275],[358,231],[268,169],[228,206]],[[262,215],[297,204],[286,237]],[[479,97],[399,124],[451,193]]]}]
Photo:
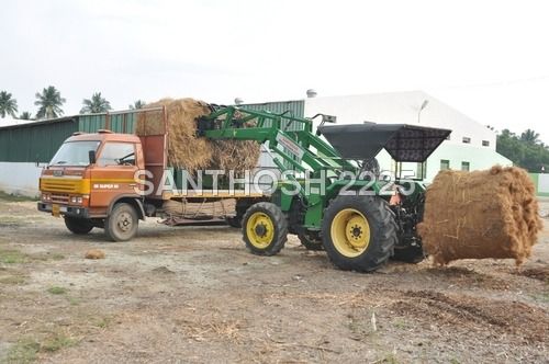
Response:
[{"label": "orange flatbed truck with yellow front, excluding its fiber load", "polygon": [[[161,113],[166,126],[164,107],[139,112]],[[38,211],[63,217],[74,234],[85,235],[94,227],[104,228],[109,239],[125,241],[135,236],[139,220],[147,216],[166,216],[163,209],[166,201],[203,205],[236,198],[233,211],[220,212],[206,220],[201,216],[200,223],[228,223],[239,227],[247,206],[260,198],[260,193],[234,190],[144,193],[147,187],[159,191],[158,186],[165,183],[165,171],[169,170],[167,143],[167,132],[143,137],[108,129],[93,134],[75,133],[42,171]],[[186,218],[165,221],[193,224]]]}]

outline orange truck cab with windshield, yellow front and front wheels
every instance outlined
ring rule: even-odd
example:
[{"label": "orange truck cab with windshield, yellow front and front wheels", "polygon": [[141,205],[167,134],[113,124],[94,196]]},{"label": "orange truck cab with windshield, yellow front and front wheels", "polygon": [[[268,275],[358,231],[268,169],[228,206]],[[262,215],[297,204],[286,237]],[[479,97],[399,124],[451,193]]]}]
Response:
[{"label": "orange truck cab with windshield, yellow front and front wheels", "polygon": [[115,241],[131,239],[145,218],[142,140],[135,135],[99,130],[75,133],[42,171],[38,211],[61,216],[75,234],[104,228]]}]

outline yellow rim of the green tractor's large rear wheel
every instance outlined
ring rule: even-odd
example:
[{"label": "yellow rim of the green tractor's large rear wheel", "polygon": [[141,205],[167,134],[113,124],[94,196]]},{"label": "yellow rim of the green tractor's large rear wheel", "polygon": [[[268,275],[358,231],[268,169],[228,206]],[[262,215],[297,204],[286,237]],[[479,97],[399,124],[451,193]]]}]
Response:
[{"label": "yellow rim of the green tractor's large rear wheel", "polygon": [[370,224],[355,208],[341,209],[332,220],[332,242],[339,253],[348,258],[360,255],[370,244]]}]

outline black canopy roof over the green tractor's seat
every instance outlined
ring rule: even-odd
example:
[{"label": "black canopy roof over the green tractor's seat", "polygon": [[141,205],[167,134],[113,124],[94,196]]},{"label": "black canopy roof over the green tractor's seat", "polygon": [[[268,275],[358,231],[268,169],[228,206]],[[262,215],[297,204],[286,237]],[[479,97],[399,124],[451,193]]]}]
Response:
[{"label": "black canopy roof over the green tractor's seat", "polygon": [[318,130],[346,159],[371,159],[382,148],[397,162],[424,162],[451,130],[407,124],[323,125]]}]

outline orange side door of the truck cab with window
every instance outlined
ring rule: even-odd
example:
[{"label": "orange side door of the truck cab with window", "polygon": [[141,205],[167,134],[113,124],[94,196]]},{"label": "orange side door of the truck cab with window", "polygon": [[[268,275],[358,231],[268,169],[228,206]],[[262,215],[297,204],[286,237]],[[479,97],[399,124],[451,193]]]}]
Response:
[{"label": "orange side door of the truck cab with window", "polygon": [[107,141],[91,170],[90,207],[98,213],[120,195],[138,196],[134,143]]}]

